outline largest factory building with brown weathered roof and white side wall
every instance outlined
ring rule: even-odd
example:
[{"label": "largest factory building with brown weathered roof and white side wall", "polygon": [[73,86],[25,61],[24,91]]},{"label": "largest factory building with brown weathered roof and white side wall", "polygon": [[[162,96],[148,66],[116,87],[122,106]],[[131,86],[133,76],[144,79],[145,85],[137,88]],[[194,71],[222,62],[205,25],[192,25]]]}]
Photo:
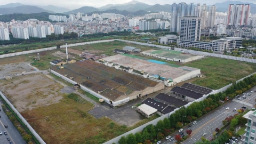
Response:
[{"label": "largest factory building with brown weathered roof and white side wall", "polygon": [[105,100],[108,100],[106,102],[110,104],[126,98],[136,99],[164,89],[164,84],[107,67],[91,60],[79,61],[73,64],[67,63],[63,65],[62,69],[58,66],[53,66],[50,69],[53,74],[62,77],[66,81],[72,80],[73,84],[79,84],[81,89],[98,93],[99,95],[95,96],[105,98]]}]

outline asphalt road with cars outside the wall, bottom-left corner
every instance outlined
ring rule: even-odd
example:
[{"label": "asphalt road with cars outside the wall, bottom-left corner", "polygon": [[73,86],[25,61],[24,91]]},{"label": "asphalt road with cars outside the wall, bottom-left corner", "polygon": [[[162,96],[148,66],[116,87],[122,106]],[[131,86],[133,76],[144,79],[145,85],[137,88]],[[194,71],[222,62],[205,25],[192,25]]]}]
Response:
[{"label": "asphalt road with cars outside the wall, bottom-left corner", "polygon": [[[0,143],[1,144],[7,144],[9,141],[7,141],[6,137],[9,137],[11,141],[13,141],[16,144],[25,144],[26,142],[22,139],[20,133],[17,129],[13,126],[12,122],[9,120],[9,118],[5,115],[3,109],[1,108],[0,111],[0,131],[3,132],[2,135],[0,135]],[[8,127],[4,127],[4,125],[7,124]],[[7,132],[7,135],[4,135],[4,131]]]}]

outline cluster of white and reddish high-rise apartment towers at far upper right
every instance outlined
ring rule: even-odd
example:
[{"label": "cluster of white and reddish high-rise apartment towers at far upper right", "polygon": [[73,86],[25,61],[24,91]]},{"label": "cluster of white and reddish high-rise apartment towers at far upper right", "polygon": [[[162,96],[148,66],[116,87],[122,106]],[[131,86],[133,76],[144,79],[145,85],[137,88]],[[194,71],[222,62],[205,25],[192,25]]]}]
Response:
[{"label": "cluster of white and reddish high-rise apartment towers at far upper right", "polygon": [[249,25],[249,14],[251,6],[249,4],[230,4],[228,6],[227,21],[228,26]]}]

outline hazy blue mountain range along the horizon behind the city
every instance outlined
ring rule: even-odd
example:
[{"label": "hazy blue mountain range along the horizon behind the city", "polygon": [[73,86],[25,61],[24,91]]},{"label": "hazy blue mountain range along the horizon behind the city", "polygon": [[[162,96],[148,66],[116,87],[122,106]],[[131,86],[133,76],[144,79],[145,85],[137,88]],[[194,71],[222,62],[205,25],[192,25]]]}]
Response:
[{"label": "hazy blue mountain range along the horizon behind the city", "polygon": [[[222,3],[216,3],[217,12],[226,12],[229,4],[250,4],[251,5],[251,13],[256,13],[256,4],[253,3],[243,3],[239,1],[226,1]],[[131,1],[125,4],[107,4],[102,7],[92,7],[92,6],[82,6],[79,9],[69,10],[64,7],[58,7],[54,5],[47,6],[31,6],[31,5],[23,5],[21,3],[10,3],[6,5],[0,5],[0,14],[13,14],[13,13],[40,13],[40,12],[48,12],[48,13],[63,13],[63,14],[71,14],[71,13],[84,13],[90,15],[91,13],[119,13],[123,15],[141,15],[146,14],[148,12],[171,12],[171,5],[149,5],[146,3]]]}]

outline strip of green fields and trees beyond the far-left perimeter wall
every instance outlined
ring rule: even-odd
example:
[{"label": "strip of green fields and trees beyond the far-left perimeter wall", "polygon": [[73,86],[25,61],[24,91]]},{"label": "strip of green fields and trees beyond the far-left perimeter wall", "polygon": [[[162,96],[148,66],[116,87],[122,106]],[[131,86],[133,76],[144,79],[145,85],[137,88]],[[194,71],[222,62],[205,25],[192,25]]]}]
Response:
[{"label": "strip of green fields and trees beyond the far-left perimeter wall", "polygon": [[49,42],[36,42],[36,43],[27,43],[27,44],[15,44],[15,45],[7,45],[7,46],[0,46],[0,53],[4,51],[12,51],[20,52],[20,51],[28,51],[34,50],[36,48],[45,48],[45,47],[52,47],[57,45],[65,45],[65,42],[68,44],[72,43],[83,43],[88,41],[99,41],[104,39],[114,39],[114,38],[121,38],[123,36],[108,36],[108,37],[95,37],[95,38],[81,38],[81,39],[69,39],[69,40],[56,40],[56,41],[49,41]]}]

